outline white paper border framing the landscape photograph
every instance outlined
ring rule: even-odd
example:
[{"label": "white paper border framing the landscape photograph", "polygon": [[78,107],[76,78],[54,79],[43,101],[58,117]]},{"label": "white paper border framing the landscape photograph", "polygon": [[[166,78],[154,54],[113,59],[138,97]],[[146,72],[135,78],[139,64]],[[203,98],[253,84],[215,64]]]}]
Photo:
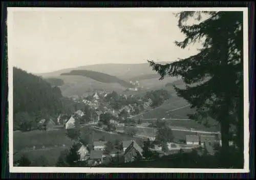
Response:
[{"label": "white paper border framing the landscape photograph", "polygon": [[[13,12],[15,11],[243,11],[244,42],[244,168],[94,168],[94,167],[14,167],[13,166]],[[249,172],[249,71],[248,71],[248,8],[7,8],[8,84],[9,84],[9,168],[11,173],[247,173]],[[245,91],[246,90],[246,91]]]}]

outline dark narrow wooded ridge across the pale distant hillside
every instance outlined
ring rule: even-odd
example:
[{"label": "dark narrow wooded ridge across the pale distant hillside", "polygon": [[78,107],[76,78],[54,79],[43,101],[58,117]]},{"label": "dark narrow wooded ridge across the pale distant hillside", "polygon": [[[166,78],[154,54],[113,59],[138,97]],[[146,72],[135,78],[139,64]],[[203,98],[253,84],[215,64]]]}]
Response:
[{"label": "dark narrow wooded ridge across the pale distant hillside", "polygon": [[89,71],[89,70],[73,70],[69,73],[62,73],[62,76],[65,75],[76,75],[76,76],[86,76],[88,78],[94,79],[99,82],[104,83],[119,83],[123,87],[132,87],[132,85],[129,82],[126,82],[124,80],[118,79],[115,76],[111,76],[105,73],[100,73],[96,71]]}]

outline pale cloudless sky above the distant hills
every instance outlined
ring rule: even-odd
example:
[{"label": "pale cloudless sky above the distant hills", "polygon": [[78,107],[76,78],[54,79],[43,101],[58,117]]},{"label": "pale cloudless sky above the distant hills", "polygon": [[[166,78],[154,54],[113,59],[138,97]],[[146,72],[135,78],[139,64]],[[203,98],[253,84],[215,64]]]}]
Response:
[{"label": "pale cloudless sky above the distant hills", "polygon": [[[176,61],[197,52],[174,43],[184,35],[172,11],[15,11],[14,66],[47,73],[101,63]],[[8,18],[8,17],[7,17]],[[8,45],[9,48],[9,45]]]}]

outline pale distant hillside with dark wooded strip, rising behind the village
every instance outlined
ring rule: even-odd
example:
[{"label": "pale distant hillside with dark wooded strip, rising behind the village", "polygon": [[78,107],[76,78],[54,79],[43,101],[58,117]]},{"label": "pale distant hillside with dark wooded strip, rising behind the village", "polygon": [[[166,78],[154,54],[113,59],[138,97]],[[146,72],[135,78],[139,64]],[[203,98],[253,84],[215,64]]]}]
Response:
[{"label": "pale distant hillside with dark wooded strip, rising behind the village", "polygon": [[[163,62],[164,63],[164,62]],[[51,84],[59,84],[64,97],[82,96],[95,89],[116,91],[125,94],[141,94],[146,91],[165,88],[165,84],[177,80],[166,77],[159,80],[159,75],[147,63],[141,64],[95,64],[60,70],[52,73],[40,74]],[[60,80],[57,80],[60,79]],[[141,91],[124,92],[126,87],[131,87],[130,80],[139,81]],[[168,87],[169,88],[169,87]],[[172,87],[170,90],[173,91]]]}]

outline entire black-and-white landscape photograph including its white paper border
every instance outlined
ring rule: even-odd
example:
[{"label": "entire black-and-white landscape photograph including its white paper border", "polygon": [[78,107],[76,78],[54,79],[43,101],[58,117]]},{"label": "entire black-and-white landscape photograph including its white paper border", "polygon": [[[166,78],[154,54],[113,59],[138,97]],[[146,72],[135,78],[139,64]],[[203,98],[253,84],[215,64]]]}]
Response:
[{"label": "entire black-and-white landscape photograph including its white paper border", "polygon": [[248,172],[247,8],[8,8],[10,172]]}]

